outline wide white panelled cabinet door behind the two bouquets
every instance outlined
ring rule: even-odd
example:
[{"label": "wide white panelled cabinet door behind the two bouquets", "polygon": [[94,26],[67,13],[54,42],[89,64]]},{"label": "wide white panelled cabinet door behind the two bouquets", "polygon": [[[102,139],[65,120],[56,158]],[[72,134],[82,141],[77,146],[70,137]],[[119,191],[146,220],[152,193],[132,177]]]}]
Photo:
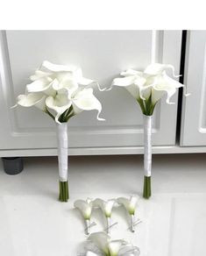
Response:
[{"label": "wide white panelled cabinet door behind the two bouquets", "polygon": [[[29,75],[42,60],[81,66],[83,75],[110,87],[113,78],[127,68],[144,69],[157,62],[180,66],[181,31],[8,31],[1,32],[1,133],[0,149],[56,148],[55,124],[35,108],[11,110],[24,93]],[[70,153],[89,148],[143,145],[143,118],[139,106],[125,89],[96,91],[103,103],[102,117],[84,111],[69,122]],[[177,95],[173,101],[177,101]],[[153,118],[153,144],[174,145],[177,104],[159,103]],[[168,120],[169,117],[169,120]],[[78,149],[76,151],[76,149]]]}]

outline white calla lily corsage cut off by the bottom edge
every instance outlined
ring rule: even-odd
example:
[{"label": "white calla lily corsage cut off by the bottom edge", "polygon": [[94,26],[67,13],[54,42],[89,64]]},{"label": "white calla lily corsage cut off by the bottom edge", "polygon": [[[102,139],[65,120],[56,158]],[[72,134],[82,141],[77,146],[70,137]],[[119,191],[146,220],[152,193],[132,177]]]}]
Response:
[{"label": "white calla lily corsage cut off by the bottom edge", "polygon": [[[89,245],[89,251],[86,252],[87,256],[92,255],[89,253],[93,253],[94,255],[99,256],[138,256],[139,248],[135,247],[125,240],[111,240],[110,236],[104,232],[96,232],[89,236],[88,240],[93,243],[94,250]],[[98,250],[96,250],[96,248]],[[87,247],[86,247],[87,250]],[[130,253],[130,254],[129,254]]]}]

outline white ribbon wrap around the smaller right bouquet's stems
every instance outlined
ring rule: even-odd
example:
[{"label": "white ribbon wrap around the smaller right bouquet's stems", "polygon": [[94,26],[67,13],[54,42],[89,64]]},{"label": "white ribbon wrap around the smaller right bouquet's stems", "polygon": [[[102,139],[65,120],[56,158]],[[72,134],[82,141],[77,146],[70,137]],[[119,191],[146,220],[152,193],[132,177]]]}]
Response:
[{"label": "white ribbon wrap around the smaller right bouquet's stems", "polygon": [[144,115],[144,173],[151,176],[152,168],[152,120],[153,116]]}]

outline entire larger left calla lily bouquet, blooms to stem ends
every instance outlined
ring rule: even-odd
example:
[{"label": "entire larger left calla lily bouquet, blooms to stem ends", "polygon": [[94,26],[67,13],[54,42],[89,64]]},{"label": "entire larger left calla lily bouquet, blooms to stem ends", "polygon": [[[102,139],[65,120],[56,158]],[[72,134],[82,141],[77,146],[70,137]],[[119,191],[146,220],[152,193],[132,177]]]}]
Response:
[{"label": "entire larger left calla lily bouquet, blooms to stem ends", "polygon": [[[52,117],[57,126],[58,160],[60,176],[59,200],[67,202],[67,122],[83,110],[97,110],[97,119],[102,104],[94,95],[92,86],[96,81],[82,76],[82,69],[74,66],[56,65],[47,60],[30,76],[31,83],[25,87],[25,94],[19,95],[17,105],[37,107]],[[103,89],[100,89],[103,90]]]}]

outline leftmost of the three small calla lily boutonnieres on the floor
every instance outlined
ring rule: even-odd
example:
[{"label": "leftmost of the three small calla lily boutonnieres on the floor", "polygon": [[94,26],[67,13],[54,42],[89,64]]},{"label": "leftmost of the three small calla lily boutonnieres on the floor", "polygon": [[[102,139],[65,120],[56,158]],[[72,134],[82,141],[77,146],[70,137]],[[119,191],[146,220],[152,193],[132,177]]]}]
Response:
[{"label": "leftmost of the three small calla lily boutonnieres on the floor", "polygon": [[88,198],[86,201],[80,199],[76,200],[74,203],[74,206],[76,209],[80,210],[82,213],[82,217],[84,218],[86,222],[86,233],[89,234],[89,224],[90,224],[90,218],[91,218],[91,212],[92,212],[92,201]]}]

